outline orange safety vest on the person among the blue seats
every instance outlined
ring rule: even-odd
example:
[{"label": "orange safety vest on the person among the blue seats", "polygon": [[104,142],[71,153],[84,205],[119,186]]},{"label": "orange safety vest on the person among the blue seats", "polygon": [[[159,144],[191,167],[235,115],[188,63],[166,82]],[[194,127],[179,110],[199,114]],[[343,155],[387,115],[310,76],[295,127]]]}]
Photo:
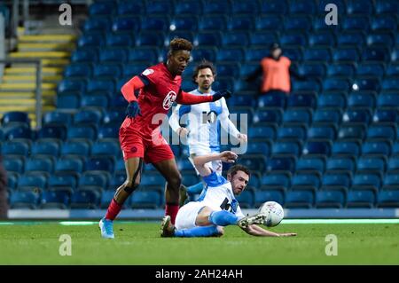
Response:
[{"label": "orange safety vest on the person among the blue seats", "polygon": [[281,56],[278,60],[263,58],[261,66],[263,71],[262,92],[269,90],[290,92],[290,59],[285,56]]}]

